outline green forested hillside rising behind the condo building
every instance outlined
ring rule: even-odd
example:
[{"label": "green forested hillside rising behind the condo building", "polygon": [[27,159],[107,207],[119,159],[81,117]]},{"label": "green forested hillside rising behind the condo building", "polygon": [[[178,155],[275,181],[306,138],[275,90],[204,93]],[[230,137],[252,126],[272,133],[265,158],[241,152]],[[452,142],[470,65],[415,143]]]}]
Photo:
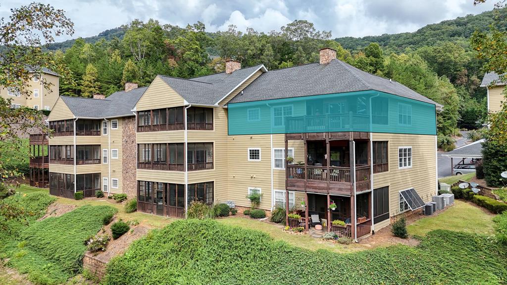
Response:
[{"label": "green forested hillside rising behind the condo building", "polygon": [[[503,18],[505,10],[496,14]],[[413,33],[336,40],[330,31],[319,31],[305,20],[270,33],[243,33],[235,26],[209,33],[201,22],[178,27],[134,20],[97,37],[60,43],[62,49],[55,55],[69,71],[62,74],[70,74],[61,79],[60,94],[110,95],[122,90],[126,81],[146,86],[157,74],[191,78],[222,72],[227,58],[242,66],[289,67],[318,61],[318,49],[331,47],[339,59],[442,103],[439,145],[446,147],[458,128],[476,128],[484,121],[486,92],[479,88],[484,62],[477,59],[468,38],[476,29],[486,30],[494,15],[469,15]]]}]

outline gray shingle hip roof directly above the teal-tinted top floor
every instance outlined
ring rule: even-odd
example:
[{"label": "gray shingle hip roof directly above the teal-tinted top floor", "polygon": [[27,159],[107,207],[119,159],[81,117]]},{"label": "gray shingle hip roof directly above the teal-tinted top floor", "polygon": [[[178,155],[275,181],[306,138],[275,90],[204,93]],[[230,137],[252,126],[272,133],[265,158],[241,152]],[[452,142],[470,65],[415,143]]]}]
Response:
[{"label": "gray shingle hip roof directly above the teal-tinted top floor", "polygon": [[407,86],[364,72],[338,59],[328,64],[310,63],[270,70],[248,85],[243,94],[230,102],[332,94],[352,91],[378,90],[437,106]]}]

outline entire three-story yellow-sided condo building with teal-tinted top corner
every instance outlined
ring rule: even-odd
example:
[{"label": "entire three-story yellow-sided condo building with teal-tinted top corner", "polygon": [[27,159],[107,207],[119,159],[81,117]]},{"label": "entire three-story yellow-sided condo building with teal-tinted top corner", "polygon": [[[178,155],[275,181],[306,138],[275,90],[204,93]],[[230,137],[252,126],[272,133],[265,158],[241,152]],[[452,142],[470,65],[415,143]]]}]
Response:
[{"label": "entire three-story yellow-sided condo building with teal-tinted top corner", "polygon": [[[329,228],[332,220],[345,220],[346,227],[333,230],[352,238],[389,225],[401,212],[420,209],[437,193],[435,111],[441,105],[337,60],[332,49],[320,53],[320,62],[271,71],[262,64],[240,68],[239,62],[228,61],[225,73],[192,79],[159,75],[148,87],[104,100],[62,97],[49,116],[50,126],[61,132],[49,140],[50,157],[56,152],[54,159],[69,163],[50,160],[52,193],[72,197],[83,187],[66,183],[67,175],[97,173],[84,177],[85,188],[89,181],[93,190],[136,196],[139,211],[183,218],[192,201],[249,207],[246,196],[260,192],[260,208],[282,205],[306,217],[289,221],[292,226],[307,227],[311,215]],[[376,95],[369,101],[357,95],[365,93]],[[322,94],[343,94],[344,99],[311,101]],[[121,116],[108,113],[125,99],[129,103]],[[268,109],[248,109],[245,121],[232,115],[231,108],[252,102]],[[402,102],[429,109],[423,113]],[[373,115],[364,115],[373,106]],[[416,122],[417,116],[422,119]],[[81,120],[93,121],[74,131],[73,122]],[[110,129],[113,120],[117,130]],[[266,120],[270,129],[262,131]],[[365,131],[366,121],[391,131]],[[294,126],[305,130],[291,130]],[[349,131],[330,130],[343,126]],[[429,134],[411,134],[421,126],[429,127]],[[105,127],[107,135],[102,135]],[[238,130],[241,134],[235,134]],[[88,150],[93,155],[80,164],[83,159],[70,154],[83,145],[93,145]],[[111,158],[115,150],[118,159]],[[113,179],[118,187],[111,186]],[[330,202],[337,209],[329,209]]]}]

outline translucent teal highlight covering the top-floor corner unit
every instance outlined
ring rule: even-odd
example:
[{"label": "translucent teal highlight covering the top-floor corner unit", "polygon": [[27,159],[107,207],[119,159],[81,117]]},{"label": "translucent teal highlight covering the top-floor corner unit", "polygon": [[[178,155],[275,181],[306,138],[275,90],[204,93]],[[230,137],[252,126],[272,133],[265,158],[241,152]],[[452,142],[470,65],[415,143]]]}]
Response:
[{"label": "translucent teal highlight covering the top-floor corner unit", "polygon": [[436,135],[435,108],[374,90],[229,103],[229,135],[345,131]]}]

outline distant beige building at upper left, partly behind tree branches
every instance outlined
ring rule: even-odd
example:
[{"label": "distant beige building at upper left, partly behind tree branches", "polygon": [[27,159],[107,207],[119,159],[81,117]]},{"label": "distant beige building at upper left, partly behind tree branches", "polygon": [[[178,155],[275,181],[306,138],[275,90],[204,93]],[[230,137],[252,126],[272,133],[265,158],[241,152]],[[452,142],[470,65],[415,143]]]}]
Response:
[{"label": "distant beige building at upper left, partly behind tree branches", "polygon": [[47,68],[43,68],[42,77],[51,84],[48,91],[37,77],[32,77],[29,82],[28,96],[23,96],[15,89],[0,87],[0,95],[12,99],[13,107],[27,106],[36,110],[51,110],[59,96],[59,76]]}]

